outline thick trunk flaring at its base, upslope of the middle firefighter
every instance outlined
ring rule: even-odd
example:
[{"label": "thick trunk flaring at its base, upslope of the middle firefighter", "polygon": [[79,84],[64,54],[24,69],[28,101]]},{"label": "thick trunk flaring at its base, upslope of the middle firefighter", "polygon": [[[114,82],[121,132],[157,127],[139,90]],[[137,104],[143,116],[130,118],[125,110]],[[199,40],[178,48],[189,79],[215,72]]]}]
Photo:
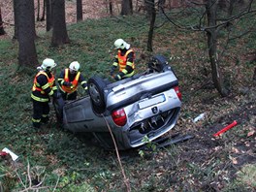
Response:
[{"label": "thick trunk flaring at its base, upslope of the middle firefighter", "polygon": [[51,46],[59,47],[70,43],[65,18],[65,0],[52,0],[52,14]]}]

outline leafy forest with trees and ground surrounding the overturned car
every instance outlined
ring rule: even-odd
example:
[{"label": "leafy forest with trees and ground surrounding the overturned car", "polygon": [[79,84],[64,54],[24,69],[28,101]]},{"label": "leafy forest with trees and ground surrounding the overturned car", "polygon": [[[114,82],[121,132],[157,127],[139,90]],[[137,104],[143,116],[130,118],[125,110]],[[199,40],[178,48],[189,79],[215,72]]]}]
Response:
[{"label": "leafy forest with trees and ground surrounding the overturned car", "polygon": [[[254,0],[9,3],[0,5],[0,149],[18,159],[0,153],[0,191],[256,189]],[[118,38],[134,48],[138,73],[152,55],[168,58],[182,93],[169,134],[193,139],[106,151],[90,134],[59,128],[52,104],[47,126],[32,127],[31,87],[42,61],[53,58],[55,74],[78,60],[87,79],[108,77]],[[205,117],[193,122],[200,113]],[[235,120],[234,128],[212,137]]]}]

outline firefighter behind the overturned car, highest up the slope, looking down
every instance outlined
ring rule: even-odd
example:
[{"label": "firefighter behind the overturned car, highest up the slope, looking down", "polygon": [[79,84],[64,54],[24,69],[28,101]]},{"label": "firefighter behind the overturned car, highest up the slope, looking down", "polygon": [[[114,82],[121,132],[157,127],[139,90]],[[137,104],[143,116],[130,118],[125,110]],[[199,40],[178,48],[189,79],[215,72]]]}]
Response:
[{"label": "firefighter behind the overturned car, highest up the slope, looking down", "polygon": [[[113,45],[118,50],[112,63],[111,76],[114,80],[123,80],[132,77],[135,73],[134,50],[130,48],[130,45],[122,39],[117,39]],[[117,67],[119,72],[113,76],[113,73]]]}]

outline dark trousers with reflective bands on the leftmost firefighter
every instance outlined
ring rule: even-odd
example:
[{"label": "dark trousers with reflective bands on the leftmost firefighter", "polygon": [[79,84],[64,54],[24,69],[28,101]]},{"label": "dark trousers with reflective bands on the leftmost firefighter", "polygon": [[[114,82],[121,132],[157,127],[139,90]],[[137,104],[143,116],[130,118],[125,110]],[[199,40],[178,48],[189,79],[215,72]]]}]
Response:
[{"label": "dark trousers with reflective bands on the leftmost firefighter", "polygon": [[32,123],[34,127],[40,128],[41,122],[43,123],[48,122],[48,113],[49,113],[48,102],[38,102],[35,100],[32,100],[32,101],[33,101]]}]

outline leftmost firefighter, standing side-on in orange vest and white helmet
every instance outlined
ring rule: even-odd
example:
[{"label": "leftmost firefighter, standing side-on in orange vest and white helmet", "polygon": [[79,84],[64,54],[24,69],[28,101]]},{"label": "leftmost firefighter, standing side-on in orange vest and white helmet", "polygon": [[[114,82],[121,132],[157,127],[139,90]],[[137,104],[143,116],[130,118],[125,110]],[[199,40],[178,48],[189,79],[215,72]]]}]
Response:
[{"label": "leftmost firefighter, standing side-on in orange vest and white helmet", "polygon": [[38,67],[38,73],[34,79],[31,99],[33,102],[32,124],[34,128],[40,128],[40,124],[48,123],[49,96],[57,98],[57,86],[55,85],[52,69],[56,67],[53,59],[46,58]]}]

